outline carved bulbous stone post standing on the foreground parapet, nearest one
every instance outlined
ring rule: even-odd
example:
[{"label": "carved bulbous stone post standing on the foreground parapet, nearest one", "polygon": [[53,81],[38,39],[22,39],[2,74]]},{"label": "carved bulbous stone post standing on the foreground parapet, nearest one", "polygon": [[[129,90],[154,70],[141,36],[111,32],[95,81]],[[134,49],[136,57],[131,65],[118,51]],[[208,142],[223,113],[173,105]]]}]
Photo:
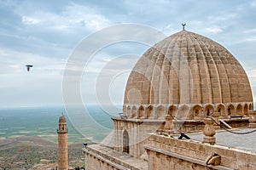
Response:
[{"label": "carved bulbous stone post standing on the foreground parapet, nearest one", "polygon": [[215,129],[211,118],[204,118],[205,127],[203,133],[205,134],[203,143],[215,144]]}]

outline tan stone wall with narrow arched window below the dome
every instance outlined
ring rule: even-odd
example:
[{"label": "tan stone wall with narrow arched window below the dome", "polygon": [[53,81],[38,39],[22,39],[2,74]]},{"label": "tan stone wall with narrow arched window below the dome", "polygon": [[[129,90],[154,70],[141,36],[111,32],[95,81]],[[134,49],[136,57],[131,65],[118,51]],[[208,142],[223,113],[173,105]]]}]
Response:
[{"label": "tan stone wall with narrow arched window below the dome", "polygon": [[[145,153],[143,145],[150,133],[157,132],[164,127],[164,121],[161,120],[130,120],[119,117],[112,119],[114,125],[113,150],[129,153],[137,158]],[[128,141],[128,144],[125,144],[125,141]]]}]

